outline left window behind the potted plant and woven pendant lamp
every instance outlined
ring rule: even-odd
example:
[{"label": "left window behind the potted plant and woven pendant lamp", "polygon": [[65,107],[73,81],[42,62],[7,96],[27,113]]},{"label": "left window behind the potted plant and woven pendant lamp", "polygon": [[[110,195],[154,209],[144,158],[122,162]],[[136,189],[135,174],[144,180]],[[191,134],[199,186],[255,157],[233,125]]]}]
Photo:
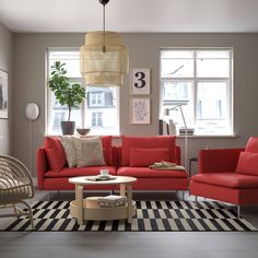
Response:
[{"label": "left window behind the potted plant and woven pendant lamp", "polygon": [[[71,83],[80,83],[85,86],[84,79],[80,74],[79,49],[48,49],[47,51],[48,78],[50,67],[55,61],[66,63],[67,75]],[[91,128],[91,134],[119,134],[118,96],[119,87],[87,86],[87,98],[81,107],[72,109],[71,120],[77,128]],[[61,133],[61,121],[68,118],[67,106],[56,102],[54,93],[47,86],[47,128],[48,134]]]}]

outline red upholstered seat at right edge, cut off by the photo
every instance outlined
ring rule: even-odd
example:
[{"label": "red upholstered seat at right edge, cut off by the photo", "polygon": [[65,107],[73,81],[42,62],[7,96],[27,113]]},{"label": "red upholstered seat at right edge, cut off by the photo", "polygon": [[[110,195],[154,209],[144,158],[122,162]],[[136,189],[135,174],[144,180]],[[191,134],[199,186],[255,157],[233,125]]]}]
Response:
[{"label": "red upholstered seat at right edge, cut off by the photo", "polygon": [[258,137],[250,138],[245,149],[201,150],[190,195],[236,204],[238,218],[241,206],[257,204]]}]

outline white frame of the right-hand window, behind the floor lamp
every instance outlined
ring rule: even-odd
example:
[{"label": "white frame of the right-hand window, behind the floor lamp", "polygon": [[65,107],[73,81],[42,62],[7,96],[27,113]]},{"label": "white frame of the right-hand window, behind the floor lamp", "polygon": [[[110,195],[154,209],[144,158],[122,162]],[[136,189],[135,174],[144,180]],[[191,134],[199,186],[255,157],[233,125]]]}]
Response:
[{"label": "white frame of the right-hand window, behind the floor lamp", "polygon": [[[162,77],[162,51],[169,51],[169,50],[185,50],[185,51],[194,51],[194,78],[165,78]],[[223,51],[226,50],[230,52],[230,74],[228,78],[198,78],[197,77],[197,57],[196,57],[196,52],[200,51],[200,50],[204,50],[204,51],[213,51],[213,50],[218,50],[218,51]],[[198,136],[204,136],[204,137],[234,137],[234,108],[233,108],[233,93],[234,93],[234,85],[233,85],[233,48],[219,48],[219,47],[214,47],[214,48],[206,48],[206,47],[201,47],[201,48],[188,48],[188,47],[183,47],[183,48],[173,48],[173,47],[167,47],[167,48],[160,48],[160,87],[161,87],[161,97],[160,97],[160,117],[163,118],[163,83],[164,82],[191,82],[192,83],[192,89],[191,89],[191,101],[192,101],[192,119],[194,122],[196,124],[197,120],[197,99],[198,99],[198,83],[199,82],[226,82],[226,96],[227,96],[227,117],[228,117],[228,127],[230,127],[230,133],[228,134],[215,134],[215,133],[211,133],[211,134],[198,134]],[[195,134],[196,136],[196,134]]]}]

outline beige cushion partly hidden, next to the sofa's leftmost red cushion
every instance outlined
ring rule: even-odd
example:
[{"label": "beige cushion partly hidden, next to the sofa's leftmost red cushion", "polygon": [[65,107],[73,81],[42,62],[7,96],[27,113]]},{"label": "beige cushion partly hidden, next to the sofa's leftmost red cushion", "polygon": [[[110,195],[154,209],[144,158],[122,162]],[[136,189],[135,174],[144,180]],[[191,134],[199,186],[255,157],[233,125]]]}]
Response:
[{"label": "beige cushion partly hidden, next to the sofa's leftmost red cushion", "polygon": [[67,156],[67,163],[69,167],[77,166],[77,150],[73,143],[72,137],[60,137],[60,142],[63,146],[66,156]]}]

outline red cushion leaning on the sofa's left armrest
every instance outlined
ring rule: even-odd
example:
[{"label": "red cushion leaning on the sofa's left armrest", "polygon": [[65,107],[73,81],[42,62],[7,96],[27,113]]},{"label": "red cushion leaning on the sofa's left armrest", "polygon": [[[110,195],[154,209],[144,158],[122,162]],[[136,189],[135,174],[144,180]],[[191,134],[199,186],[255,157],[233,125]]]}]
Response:
[{"label": "red cushion leaning on the sofa's left armrest", "polygon": [[48,164],[54,172],[60,172],[67,164],[67,157],[60,140],[57,137],[47,137],[44,141]]}]

